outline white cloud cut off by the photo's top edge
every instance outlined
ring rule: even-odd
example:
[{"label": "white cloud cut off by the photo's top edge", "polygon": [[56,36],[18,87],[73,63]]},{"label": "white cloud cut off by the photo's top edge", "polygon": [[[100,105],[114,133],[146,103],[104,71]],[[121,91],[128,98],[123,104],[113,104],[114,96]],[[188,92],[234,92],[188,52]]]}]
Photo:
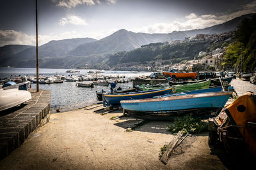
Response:
[{"label": "white cloud cut off by the photo's top edge", "polygon": [[63,6],[66,8],[75,8],[77,5],[86,4],[86,5],[95,5],[102,4],[106,2],[108,4],[115,4],[116,0],[52,0],[54,3],[58,3],[57,6]]}]

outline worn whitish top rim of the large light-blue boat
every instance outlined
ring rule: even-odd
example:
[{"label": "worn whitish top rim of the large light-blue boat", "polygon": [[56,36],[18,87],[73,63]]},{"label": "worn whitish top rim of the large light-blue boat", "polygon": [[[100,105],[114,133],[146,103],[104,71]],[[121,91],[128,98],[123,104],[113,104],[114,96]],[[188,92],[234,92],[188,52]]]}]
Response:
[{"label": "worn whitish top rim of the large light-blue boat", "polygon": [[[232,92],[207,92],[204,94],[188,94],[184,96],[170,96],[170,97],[159,97],[154,99],[135,99],[135,100],[122,100],[120,103],[150,103],[159,101],[175,101],[180,99],[193,99],[202,97],[214,97],[214,96],[231,96]],[[193,97],[193,98],[192,98]]]}]

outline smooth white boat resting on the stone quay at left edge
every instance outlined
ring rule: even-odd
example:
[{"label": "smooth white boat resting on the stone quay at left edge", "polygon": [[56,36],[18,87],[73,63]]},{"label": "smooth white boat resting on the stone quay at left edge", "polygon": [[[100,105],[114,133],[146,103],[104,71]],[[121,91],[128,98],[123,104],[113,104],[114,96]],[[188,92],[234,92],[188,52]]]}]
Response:
[{"label": "smooth white boat resting on the stone quay at left edge", "polygon": [[31,99],[31,94],[26,90],[0,89],[0,111],[18,106],[29,99]]}]

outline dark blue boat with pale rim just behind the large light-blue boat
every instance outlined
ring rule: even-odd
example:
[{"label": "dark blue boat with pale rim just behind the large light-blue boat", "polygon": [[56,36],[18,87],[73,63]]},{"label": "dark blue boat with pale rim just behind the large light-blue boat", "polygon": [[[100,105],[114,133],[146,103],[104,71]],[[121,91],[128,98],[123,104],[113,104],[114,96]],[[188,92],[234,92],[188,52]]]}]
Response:
[{"label": "dark blue boat with pale rim just behind the large light-blue boat", "polygon": [[127,92],[123,94],[104,94],[103,97],[103,106],[120,106],[120,101],[122,100],[131,100],[131,99],[147,99],[154,96],[161,96],[164,94],[170,94],[172,92],[172,87],[168,89],[156,89],[156,90],[147,90],[140,92]]}]

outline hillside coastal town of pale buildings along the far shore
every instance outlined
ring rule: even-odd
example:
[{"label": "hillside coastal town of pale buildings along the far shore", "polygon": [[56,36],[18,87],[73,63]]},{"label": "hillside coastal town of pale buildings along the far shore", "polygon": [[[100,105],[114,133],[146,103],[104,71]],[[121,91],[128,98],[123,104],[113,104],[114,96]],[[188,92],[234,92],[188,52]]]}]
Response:
[{"label": "hillside coastal town of pale buildings along the far shore", "polygon": [[[189,42],[211,42],[218,44],[218,41],[225,41],[230,43],[234,41],[235,32],[223,32],[221,34],[197,34],[195,37],[188,37],[183,40],[175,40],[164,42],[164,45],[173,45]],[[108,65],[102,65],[97,69],[104,70],[122,70],[122,71],[169,71],[171,69],[179,69],[180,71],[204,71],[204,70],[223,70],[228,69],[221,65],[223,63],[225,54],[225,48],[216,48],[212,52],[199,52],[193,60],[177,61],[177,56],[171,57],[168,60],[153,60],[143,64],[138,62],[126,62],[124,64],[117,64],[116,66],[109,67]],[[177,63],[176,63],[177,62]],[[90,67],[87,67],[88,69]],[[236,68],[237,71],[237,68]]]}]

